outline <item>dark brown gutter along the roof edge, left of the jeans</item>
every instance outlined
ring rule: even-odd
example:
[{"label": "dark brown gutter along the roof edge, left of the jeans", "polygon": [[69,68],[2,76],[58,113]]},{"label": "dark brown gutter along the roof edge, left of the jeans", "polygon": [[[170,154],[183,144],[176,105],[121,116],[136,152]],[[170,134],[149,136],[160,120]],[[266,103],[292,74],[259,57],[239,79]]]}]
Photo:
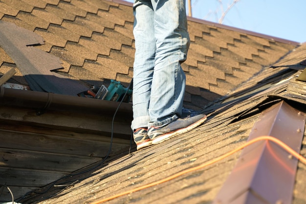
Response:
[{"label": "dark brown gutter along the roof edge, left of the jeans", "polygon": [[[3,86],[0,88],[0,105],[28,107],[40,111],[62,110],[113,115],[119,103],[39,91],[4,88]],[[127,119],[131,118],[131,103],[121,103],[117,114],[124,115]]]}]

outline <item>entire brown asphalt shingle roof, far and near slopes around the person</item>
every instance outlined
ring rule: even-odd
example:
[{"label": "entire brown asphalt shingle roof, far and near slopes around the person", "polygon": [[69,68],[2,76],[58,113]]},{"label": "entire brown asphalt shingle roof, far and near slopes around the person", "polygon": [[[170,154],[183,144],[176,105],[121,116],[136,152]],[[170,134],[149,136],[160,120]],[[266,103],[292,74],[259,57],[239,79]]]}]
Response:
[{"label": "entire brown asphalt shingle roof, far and near slopes around the person", "polygon": [[[0,0],[0,20],[40,35],[44,44],[34,48],[63,62],[58,72],[61,76],[88,89],[108,85],[112,79],[127,85],[134,58],[131,5],[121,0]],[[127,149],[112,153],[105,163],[92,164],[94,170],[81,169],[76,172],[82,174],[59,182],[73,183],[68,188],[47,185],[39,190],[41,194],[30,193],[22,203],[90,203],[149,184],[245,143],[262,107],[285,100],[305,111],[304,82],[295,79],[305,68],[300,62],[306,59],[306,44],[193,18],[188,18],[188,30],[191,45],[182,64],[187,77],[184,107],[207,114],[208,121],[173,140],[140,151],[135,151],[133,144],[131,154]],[[272,64],[277,68],[270,68]],[[12,67],[17,73],[9,82],[29,85],[15,61],[0,47],[0,73]],[[279,82],[284,83],[280,86]],[[5,117],[2,115],[1,120]],[[88,138],[94,138],[91,134]],[[68,138],[74,137],[81,136]],[[304,157],[305,145],[306,137],[300,152]],[[3,154],[6,151],[2,146],[0,150]],[[29,147],[26,151],[36,150]],[[109,203],[212,203],[239,156],[236,153]],[[305,164],[298,163],[293,204],[306,203],[305,175]]]}]

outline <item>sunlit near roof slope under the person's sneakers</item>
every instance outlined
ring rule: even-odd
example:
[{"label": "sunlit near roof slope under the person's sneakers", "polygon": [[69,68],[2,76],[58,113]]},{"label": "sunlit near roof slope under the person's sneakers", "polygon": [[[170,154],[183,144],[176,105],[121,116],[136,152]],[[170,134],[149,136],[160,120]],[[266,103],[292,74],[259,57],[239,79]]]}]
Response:
[{"label": "sunlit near roof slope under the person's sneakers", "polygon": [[[264,68],[254,79],[241,86],[240,94],[233,91],[233,95],[223,98],[220,104],[204,109],[210,112],[209,120],[191,132],[131,154],[126,152],[120,157],[109,158],[105,166],[82,176],[64,179],[63,182],[68,183],[77,180],[81,182],[63,192],[56,195],[60,189],[53,187],[43,196],[33,194],[24,201],[44,204],[90,203],[108,198],[203,164],[239,147],[246,143],[262,111],[276,102],[285,100],[305,114],[306,97],[302,88],[305,82],[296,81],[301,71],[289,66],[305,68],[305,65],[300,64],[306,59],[305,48],[306,44],[303,44],[277,62],[278,68]],[[306,156],[305,132],[300,153]],[[165,183],[119,196],[108,203],[212,203],[239,156],[240,152],[235,153],[218,163],[183,174]],[[306,165],[299,162],[293,204],[306,202],[305,183]],[[41,191],[46,188],[48,186]]]}]

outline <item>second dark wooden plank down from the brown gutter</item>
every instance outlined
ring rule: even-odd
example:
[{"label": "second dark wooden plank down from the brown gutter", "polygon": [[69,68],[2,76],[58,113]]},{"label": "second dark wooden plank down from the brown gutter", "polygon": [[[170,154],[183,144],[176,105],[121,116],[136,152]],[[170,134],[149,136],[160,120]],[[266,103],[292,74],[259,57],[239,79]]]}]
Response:
[{"label": "second dark wooden plank down from the brown gutter", "polygon": [[[84,138],[86,135],[84,134]],[[39,151],[84,157],[105,157],[109,151],[109,142],[90,141],[85,139],[65,138],[55,135],[25,133],[11,130],[0,130],[0,148]],[[108,140],[110,141],[110,139]],[[112,144],[116,152],[130,144]]]}]

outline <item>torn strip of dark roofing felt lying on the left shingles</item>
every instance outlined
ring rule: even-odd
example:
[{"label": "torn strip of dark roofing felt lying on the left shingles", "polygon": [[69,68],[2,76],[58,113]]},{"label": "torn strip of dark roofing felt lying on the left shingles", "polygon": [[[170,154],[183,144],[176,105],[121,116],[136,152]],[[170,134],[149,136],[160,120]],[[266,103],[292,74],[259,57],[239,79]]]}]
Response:
[{"label": "torn strip of dark roofing felt lying on the left shingles", "polygon": [[33,47],[40,44],[44,44],[44,39],[38,34],[0,20],[0,46],[15,61],[32,90],[77,95],[88,89],[56,73],[55,70],[63,69],[62,62]]}]

